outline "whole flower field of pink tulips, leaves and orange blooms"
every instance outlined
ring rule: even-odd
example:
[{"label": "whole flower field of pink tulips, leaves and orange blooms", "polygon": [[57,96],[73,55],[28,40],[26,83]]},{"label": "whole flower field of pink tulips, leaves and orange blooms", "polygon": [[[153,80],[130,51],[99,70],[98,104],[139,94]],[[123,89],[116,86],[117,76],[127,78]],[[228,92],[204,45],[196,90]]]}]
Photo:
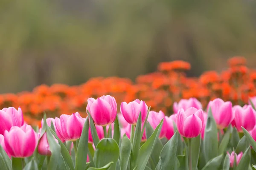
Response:
[{"label": "whole flower field of pink tulips, leaves and orange blooms", "polygon": [[163,62],[129,79],[0,96],[1,170],[256,170],[256,71],[243,57],[186,77]]}]

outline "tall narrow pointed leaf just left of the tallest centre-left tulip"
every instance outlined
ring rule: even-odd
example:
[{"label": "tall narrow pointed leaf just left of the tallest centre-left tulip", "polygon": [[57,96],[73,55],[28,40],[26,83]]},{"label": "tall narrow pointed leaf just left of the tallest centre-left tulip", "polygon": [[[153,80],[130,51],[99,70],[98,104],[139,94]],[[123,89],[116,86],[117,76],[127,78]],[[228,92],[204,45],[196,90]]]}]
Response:
[{"label": "tall narrow pointed leaf just left of the tallest centre-left tulip", "polygon": [[84,158],[87,158],[88,130],[89,130],[89,118],[87,117],[84,122],[84,127],[81,133],[78,147],[77,147],[75,170],[84,170],[84,167],[86,165],[86,161],[84,161]]}]

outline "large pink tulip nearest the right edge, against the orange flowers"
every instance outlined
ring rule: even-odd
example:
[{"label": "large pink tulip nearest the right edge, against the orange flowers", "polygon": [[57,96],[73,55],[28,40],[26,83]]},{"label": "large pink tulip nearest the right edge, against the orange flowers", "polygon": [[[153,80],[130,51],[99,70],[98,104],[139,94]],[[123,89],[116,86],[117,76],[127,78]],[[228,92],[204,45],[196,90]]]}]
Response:
[{"label": "large pink tulip nearest the right edge, against the orange flowers", "polygon": [[233,113],[235,114],[235,119],[233,119],[232,125],[237,128],[237,131],[243,132],[241,127],[244,127],[247,131],[253,130],[256,120],[253,108],[250,105],[244,108],[236,105],[233,107]]}]

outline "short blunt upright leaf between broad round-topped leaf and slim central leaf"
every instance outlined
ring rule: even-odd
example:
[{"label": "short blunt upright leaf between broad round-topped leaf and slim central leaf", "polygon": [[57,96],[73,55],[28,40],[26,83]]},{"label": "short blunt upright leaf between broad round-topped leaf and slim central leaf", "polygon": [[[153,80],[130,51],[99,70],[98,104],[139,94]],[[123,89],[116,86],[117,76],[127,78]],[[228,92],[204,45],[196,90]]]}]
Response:
[{"label": "short blunt upright leaf between broad round-topped leaf and slim central leaf", "polygon": [[131,154],[131,141],[126,136],[126,134],[122,137],[122,143],[120,147],[120,167],[121,170],[127,170],[128,160]]}]

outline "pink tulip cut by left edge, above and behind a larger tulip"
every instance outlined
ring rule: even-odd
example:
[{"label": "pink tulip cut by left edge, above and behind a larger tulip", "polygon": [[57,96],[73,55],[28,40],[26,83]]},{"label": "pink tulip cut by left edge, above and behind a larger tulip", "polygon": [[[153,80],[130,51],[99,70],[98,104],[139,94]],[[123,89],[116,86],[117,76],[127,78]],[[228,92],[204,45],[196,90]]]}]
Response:
[{"label": "pink tulip cut by left edge, above and behind a larger tulip", "polygon": [[16,110],[13,107],[3,108],[0,110],[0,134],[3,135],[4,131],[9,131],[12,126],[22,126],[24,124],[23,113],[21,108]]}]

